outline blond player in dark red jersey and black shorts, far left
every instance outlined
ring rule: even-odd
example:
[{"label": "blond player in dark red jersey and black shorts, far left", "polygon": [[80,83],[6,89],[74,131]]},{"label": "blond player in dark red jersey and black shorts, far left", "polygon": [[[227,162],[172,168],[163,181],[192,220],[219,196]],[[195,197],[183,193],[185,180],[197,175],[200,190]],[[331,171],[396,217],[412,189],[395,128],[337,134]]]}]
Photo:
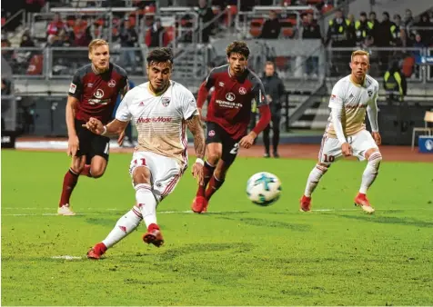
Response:
[{"label": "blond player in dark red jersey and black shorts, far left", "polygon": [[[72,163],[65,173],[57,210],[59,215],[75,215],[69,199],[80,174],[99,178],[106,171],[110,139],[91,133],[82,124],[86,124],[90,117],[107,124],[111,120],[117,95],[126,94],[128,89],[126,71],[110,63],[105,40],[93,40],[88,50],[92,63],[76,71],[67,97],[67,154],[72,156]],[[119,144],[123,136],[124,133],[120,134]]]}]

